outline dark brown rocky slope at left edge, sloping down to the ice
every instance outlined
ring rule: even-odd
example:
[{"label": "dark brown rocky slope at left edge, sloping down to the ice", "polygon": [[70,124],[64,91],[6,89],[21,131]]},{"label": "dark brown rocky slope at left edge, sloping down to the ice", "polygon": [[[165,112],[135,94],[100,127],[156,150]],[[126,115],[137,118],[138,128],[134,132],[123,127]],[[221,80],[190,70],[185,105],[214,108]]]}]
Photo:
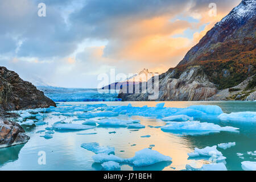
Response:
[{"label": "dark brown rocky slope at left edge, sloping down to the ice", "polygon": [[3,111],[35,109],[56,106],[31,82],[23,81],[19,75],[0,67],[0,109]]}]

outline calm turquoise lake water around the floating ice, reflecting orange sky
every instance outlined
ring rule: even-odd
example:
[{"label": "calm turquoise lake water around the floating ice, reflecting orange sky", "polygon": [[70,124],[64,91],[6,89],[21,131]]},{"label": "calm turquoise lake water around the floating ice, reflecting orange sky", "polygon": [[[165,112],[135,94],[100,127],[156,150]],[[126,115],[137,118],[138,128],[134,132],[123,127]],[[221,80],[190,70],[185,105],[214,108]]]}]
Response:
[{"label": "calm turquoise lake water around the floating ice, reflecting orange sky", "polygon": [[[104,103],[112,105],[133,106],[155,106],[159,102],[59,102],[60,105],[79,106],[85,104]],[[238,111],[256,111],[256,102],[165,102],[166,107],[187,107],[191,105],[218,105],[224,113]],[[126,119],[126,115],[119,115],[115,118]],[[236,142],[236,146],[219,151],[226,157],[226,168],[228,170],[242,170],[241,162],[256,162],[256,156],[248,155],[248,151],[256,151],[256,121],[255,122],[234,122],[220,121],[219,119],[200,119],[201,122],[212,122],[220,126],[233,126],[240,128],[240,132],[221,131],[205,135],[177,135],[163,132],[160,129],[148,127],[165,125],[163,121],[156,118],[132,116],[132,119],[141,120],[145,125],[144,129],[134,130],[127,128],[96,127],[96,129],[84,131],[55,131],[53,138],[45,139],[36,131],[44,130],[43,126],[23,126],[30,140],[26,144],[20,144],[7,148],[0,148],[0,170],[101,170],[101,164],[94,163],[93,152],[81,147],[82,143],[98,142],[101,146],[115,147],[115,155],[122,158],[134,156],[136,151],[155,146],[161,154],[171,156],[172,162],[161,162],[147,167],[134,167],[130,164],[123,164],[121,170],[183,170],[186,164],[200,168],[202,164],[210,163],[207,159],[189,159],[187,153],[192,152],[195,147],[204,148],[219,143]],[[47,113],[44,118],[51,126],[54,122],[66,119],[72,121],[74,117],[64,115],[52,115]],[[76,121],[81,123],[82,121]],[[112,133],[115,131],[116,133]],[[96,133],[96,134],[90,134]],[[88,135],[89,134],[89,135]],[[149,138],[142,138],[143,135],[151,135]],[[46,154],[46,164],[38,163],[39,152]],[[243,154],[243,159],[237,156],[237,152]]]}]

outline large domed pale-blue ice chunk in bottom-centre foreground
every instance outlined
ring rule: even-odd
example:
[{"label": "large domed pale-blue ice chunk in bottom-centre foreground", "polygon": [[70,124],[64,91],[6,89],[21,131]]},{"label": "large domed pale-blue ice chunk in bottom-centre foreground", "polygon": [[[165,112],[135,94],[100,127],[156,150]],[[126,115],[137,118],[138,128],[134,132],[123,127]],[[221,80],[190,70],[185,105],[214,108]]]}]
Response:
[{"label": "large domed pale-blue ice chunk in bottom-centre foreground", "polygon": [[126,159],[125,161],[134,164],[134,166],[141,167],[170,160],[172,160],[170,156],[160,154],[158,151],[149,148],[144,148],[143,150],[135,152],[133,158]]}]

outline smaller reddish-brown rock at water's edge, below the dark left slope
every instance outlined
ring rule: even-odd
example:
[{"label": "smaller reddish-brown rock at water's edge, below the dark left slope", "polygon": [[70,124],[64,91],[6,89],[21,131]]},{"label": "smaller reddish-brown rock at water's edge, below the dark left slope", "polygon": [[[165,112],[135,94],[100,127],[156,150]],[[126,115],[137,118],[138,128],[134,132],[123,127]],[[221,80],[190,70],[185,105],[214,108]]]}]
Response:
[{"label": "smaller reddish-brown rock at water's edge, below the dark left slope", "polygon": [[0,117],[0,148],[26,143],[28,139],[18,123]]}]

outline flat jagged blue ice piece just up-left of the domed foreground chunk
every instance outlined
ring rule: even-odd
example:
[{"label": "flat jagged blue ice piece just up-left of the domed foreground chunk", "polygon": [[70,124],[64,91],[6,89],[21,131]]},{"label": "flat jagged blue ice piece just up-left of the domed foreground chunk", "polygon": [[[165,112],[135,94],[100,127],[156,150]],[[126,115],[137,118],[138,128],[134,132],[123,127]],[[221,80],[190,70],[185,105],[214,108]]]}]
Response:
[{"label": "flat jagged blue ice piece just up-left of the domed foreground chunk", "polygon": [[101,153],[105,153],[105,154],[110,154],[112,152],[115,151],[114,147],[109,147],[109,146],[100,146],[100,144],[96,143],[96,142],[92,142],[92,143],[82,143],[81,144],[82,148],[85,148],[86,150],[92,151],[95,154],[101,154]]}]

